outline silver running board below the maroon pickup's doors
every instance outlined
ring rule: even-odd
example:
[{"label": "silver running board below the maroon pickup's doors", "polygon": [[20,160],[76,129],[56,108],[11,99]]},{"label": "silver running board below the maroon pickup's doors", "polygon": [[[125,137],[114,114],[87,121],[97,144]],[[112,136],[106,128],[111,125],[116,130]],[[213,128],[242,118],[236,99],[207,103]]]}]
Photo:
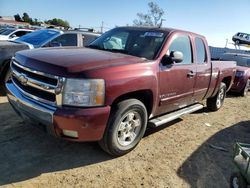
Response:
[{"label": "silver running board below the maroon pickup's doors", "polygon": [[192,106],[188,106],[188,107],[182,108],[182,109],[180,109],[178,111],[174,111],[172,113],[165,114],[163,116],[159,116],[157,118],[151,119],[151,120],[149,120],[149,125],[151,127],[158,127],[160,125],[163,125],[165,123],[173,121],[173,120],[179,118],[182,115],[190,114],[192,112],[200,110],[203,107],[204,106],[202,104],[194,104]]}]

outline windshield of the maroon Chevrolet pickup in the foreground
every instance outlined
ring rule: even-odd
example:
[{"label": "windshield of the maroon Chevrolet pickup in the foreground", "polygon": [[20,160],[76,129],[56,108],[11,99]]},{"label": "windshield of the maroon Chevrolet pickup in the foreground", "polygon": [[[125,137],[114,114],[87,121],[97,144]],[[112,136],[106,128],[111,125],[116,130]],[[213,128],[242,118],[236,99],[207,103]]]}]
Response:
[{"label": "windshield of the maroon Chevrolet pickup in the foreground", "polygon": [[154,59],[167,33],[152,29],[116,28],[100,36],[88,47]]}]

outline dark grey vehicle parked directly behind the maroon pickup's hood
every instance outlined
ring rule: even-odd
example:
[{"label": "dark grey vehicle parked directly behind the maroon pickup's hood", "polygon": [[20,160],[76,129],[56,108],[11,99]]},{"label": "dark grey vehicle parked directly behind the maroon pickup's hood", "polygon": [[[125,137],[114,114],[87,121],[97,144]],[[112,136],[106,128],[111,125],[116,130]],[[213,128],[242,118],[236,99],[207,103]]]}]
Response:
[{"label": "dark grey vehicle parked directly behind the maroon pickup's hood", "polygon": [[85,31],[42,29],[22,36],[15,41],[0,42],[0,83],[4,86],[3,82],[9,69],[10,59],[17,51],[59,46],[84,47],[99,36],[100,34]]}]

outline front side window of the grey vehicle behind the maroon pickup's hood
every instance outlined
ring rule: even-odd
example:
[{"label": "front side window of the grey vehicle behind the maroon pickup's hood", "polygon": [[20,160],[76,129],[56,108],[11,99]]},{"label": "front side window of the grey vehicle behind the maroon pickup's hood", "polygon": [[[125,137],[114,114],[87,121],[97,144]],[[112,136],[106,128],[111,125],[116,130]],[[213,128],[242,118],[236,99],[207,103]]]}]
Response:
[{"label": "front side window of the grey vehicle behind the maroon pickup's hood", "polygon": [[77,34],[64,34],[51,41],[52,46],[77,46]]}]

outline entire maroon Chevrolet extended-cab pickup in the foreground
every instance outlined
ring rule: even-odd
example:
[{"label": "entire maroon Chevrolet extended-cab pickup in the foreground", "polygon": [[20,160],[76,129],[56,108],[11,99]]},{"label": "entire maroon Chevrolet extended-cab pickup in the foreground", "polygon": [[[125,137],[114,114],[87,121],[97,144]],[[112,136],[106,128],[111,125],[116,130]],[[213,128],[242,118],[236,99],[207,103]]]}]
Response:
[{"label": "entire maroon Chevrolet extended-cab pickup in the foreground", "polygon": [[131,151],[147,125],[207,107],[218,110],[235,62],[211,62],[205,38],[166,28],[119,27],[87,48],[17,52],[6,82],[10,104],[56,137]]}]

